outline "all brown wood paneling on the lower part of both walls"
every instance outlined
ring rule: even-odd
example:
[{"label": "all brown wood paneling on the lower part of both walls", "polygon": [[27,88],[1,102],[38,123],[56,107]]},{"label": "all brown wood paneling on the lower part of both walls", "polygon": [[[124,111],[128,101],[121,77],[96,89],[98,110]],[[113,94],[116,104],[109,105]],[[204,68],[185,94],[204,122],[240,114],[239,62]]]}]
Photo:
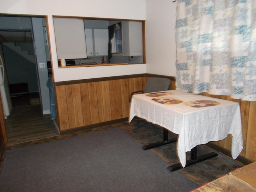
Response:
[{"label": "all brown wood paneling on the lower part of both walls", "polygon": [[[55,93],[60,131],[122,118],[128,120],[130,93],[143,90],[149,76],[158,75],[142,74],[139,77],[124,78],[121,76],[116,79],[101,78],[90,82],[57,83]],[[175,78],[169,78],[172,80],[170,90],[176,89]],[[256,161],[256,101],[241,101],[229,96],[208,93],[202,93],[202,95],[231,100],[240,104],[244,140],[244,149],[240,155]],[[224,140],[212,143],[231,151],[232,136],[229,135]]]}]

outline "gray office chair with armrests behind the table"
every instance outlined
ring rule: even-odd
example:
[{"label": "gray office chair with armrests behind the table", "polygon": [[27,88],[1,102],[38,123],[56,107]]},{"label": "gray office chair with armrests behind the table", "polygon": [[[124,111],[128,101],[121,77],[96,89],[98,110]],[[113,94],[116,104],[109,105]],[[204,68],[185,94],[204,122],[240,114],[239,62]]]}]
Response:
[{"label": "gray office chair with armrests behind the table", "polygon": [[[134,91],[130,94],[129,102],[131,102],[132,96],[135,93],[140,93],[140,92],[141,93],[151,93],[151,92],[158,92],[158,91],[166,91],[166,90],[169,90],[170,84],[171,84],[170,79],[162,78],[162,77],[151,77],[147,80],[144,90]],[[136,133],[138,131],[138,128],[147,126],[150,124],[154,128],[154,135],[157,134],[156,125],[149,123],[143,119],[134,119],[134,121],[136,121],[135,129],[133,131],[134,133]]]}]

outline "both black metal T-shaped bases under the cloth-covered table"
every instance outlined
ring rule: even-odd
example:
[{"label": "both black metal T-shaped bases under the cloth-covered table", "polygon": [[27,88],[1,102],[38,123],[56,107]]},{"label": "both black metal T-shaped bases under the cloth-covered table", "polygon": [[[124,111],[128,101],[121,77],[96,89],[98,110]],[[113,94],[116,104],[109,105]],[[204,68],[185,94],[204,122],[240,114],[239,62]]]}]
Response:
[{"label": "both black metal T-shaped bases under the cloth-covered table", "polygon": [[[144,145],[144,146],[142,146],[142,148],[144,150],[148,150],[148,149],[163,146],[163,145],[166,145],[166,144],[169,144],[169,143],[174,143],[176,141],[177,141],[177,138],[172,138],[172,139],[168,140],[168,130],[164,129],[163,141],[162,142],[156,142],[156,143],[153,143],[153,144]],[[216,157],[216,156],[218,156],[217,153],[210,152],[208,154],[204,154],[204,155],[201,155],[201,156],[197,157],[197,146],[196,146],[196,147],[192,148],[192,150],[191,150],[190,160],[186,161],[186,167],[190,166],[190,165],[193,165],[193,164],[196,164],[196,163],[199,163],[199,162],[202,162],[204,160]],[[177,164],[169,166],[168,170],[176,171],[176,170],[179,170],[181,168],[183,168],[182,165],[180,163],[177,163]]]}]

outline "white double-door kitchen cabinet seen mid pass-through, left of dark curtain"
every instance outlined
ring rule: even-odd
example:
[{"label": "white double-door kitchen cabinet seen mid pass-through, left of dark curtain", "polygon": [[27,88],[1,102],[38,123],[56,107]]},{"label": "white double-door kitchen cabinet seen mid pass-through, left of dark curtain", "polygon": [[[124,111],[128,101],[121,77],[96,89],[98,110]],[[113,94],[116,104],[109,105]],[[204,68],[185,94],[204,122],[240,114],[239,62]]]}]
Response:
[{"label": "white double-door kitchen cabinet seen mid pass-through, left of dark curtain", "polygon": [[88,56],[108,55],[108,29],[85,29]]}]

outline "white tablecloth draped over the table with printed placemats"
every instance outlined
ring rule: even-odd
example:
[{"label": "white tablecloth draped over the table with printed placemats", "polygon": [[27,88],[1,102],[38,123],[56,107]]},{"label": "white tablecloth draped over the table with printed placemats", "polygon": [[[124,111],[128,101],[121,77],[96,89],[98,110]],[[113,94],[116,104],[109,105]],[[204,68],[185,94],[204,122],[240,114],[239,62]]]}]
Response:
[{"label": "white tablecloth draped over the table with printed placemats", "polygon": [[[164,94],[167,95],[134,95],[130,104],[129,122],[138,116],[178,134],[177,151],[183,167],[186,166],[186,152],[199,144],[222,140],[228,134],[233,137],[232,157],[238,157],[243,149],[239,103],[178,90],[169,90]],[[153,98],[173,98],[180,100],[180,103],[162,104]],[[191,101],[196,100],[211,100],[217,105],[192,107],[194,102]]]}]

